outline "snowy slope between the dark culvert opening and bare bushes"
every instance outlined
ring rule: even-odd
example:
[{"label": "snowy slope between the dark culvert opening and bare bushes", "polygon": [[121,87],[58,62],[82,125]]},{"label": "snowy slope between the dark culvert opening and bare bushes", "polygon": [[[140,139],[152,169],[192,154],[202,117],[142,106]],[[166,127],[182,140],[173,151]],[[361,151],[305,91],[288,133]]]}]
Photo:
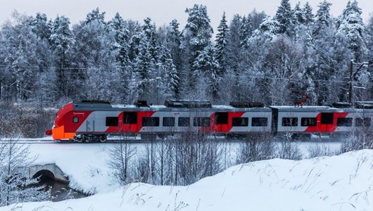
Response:
[{"label": "snowy slope between the dark culvert opening and bare bushes", "polygon": [[112,191],[118,188],[110,177],[108,152],[112,144],[46,143],[32,144],[35,165],[55,163],[69,177],[70,187],[84,193]]}]

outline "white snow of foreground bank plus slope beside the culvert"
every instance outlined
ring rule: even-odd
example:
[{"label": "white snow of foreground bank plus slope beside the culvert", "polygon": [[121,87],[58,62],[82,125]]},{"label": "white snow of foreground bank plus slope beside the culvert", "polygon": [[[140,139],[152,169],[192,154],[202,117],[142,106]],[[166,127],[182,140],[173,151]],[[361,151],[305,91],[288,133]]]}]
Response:
[{"label": "white snow of foreground bank plus slope beside the culvert", "polygon": [[23,203],[1,210],[373,210],[373,150],[309,160],[265,160],[230,167],[190,186],[115,184],[113,144],[33,144],[38,164],[55,162],[71,185],[94,196]]}]

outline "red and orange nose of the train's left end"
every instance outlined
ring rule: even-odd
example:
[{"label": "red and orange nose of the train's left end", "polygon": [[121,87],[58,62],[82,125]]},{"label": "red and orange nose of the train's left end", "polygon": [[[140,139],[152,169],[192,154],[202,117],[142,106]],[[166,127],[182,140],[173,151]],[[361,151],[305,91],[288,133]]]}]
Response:
[{"label": "red and orange nose of the train's left end", "polygon": [[74,108],[73,103],[68,103],[63,106],[56,114],[52,129],[45,132],[47,136],[52,136],[55,140],[72,139],[75,136],[75,132],[65,132],[65,115],[72,111]]}]

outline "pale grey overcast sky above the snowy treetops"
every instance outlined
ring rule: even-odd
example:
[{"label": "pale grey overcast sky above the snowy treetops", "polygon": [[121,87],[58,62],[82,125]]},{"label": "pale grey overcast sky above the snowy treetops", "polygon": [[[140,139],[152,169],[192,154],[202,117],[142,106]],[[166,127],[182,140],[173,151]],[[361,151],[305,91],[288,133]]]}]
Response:
[{"label": "pale grey overcast sky above the snowy treetops", "polygon": [[[290,1],[293,7],[299,0]],[[320,1],[322,0],[309,0],[313,13],[316,13]],[[328,1],[332,4],[331,14],[334,17],[341,14],[348,2],[348,0]],[[229,21],[234,14],[246,15],[254,8],[273,16],[280,2],[281,0],[0,0],[0,23],[10,19],[14,10],[26,15],[46,13],[49,19],[56,18],[56,15],[65,15],[70,18],[71,23],[78,23],[84,20],[89,11],[99,7],[100,11],[106,12],[106,20],[113,18],[116,12],[126,20],[139,20],[141,23],[144,18],[150,17],[158,26],[168,24],[176,18],[182,28],[187,22],[185,8],[191,8],[194,4],[203,4],[207,6],[211,25],[216,30],[223,11]],[[305,2],[301,1],[302,6]],[[362,18],[367,23],[373,12],[373,2],[359,0],[358,3],[362,8]]]}]

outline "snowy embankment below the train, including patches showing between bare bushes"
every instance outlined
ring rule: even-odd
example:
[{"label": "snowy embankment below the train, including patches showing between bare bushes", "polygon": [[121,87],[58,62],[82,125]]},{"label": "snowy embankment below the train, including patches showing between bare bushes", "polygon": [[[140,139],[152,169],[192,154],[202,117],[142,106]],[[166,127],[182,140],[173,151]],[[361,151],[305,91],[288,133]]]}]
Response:
[{"label": "snowy embankment below the train, including patches showing between bare bushes", "polygon": [[[33,143],[30,144],[32,154],[37,157],[35,165],[55,163],[68,175],[70,187],[85,193],[105,193],[118,188],[108,167],[110,150],[118,143]],[[309,148],[324,146],[330,151],[339,151],[341,142],[298,142],[298,148],[308,158]],[[227,142],[227,149],[232,160],[236,160],[239,141]],[[131,143],[135,153],[144,153],[144,144]]]}]

